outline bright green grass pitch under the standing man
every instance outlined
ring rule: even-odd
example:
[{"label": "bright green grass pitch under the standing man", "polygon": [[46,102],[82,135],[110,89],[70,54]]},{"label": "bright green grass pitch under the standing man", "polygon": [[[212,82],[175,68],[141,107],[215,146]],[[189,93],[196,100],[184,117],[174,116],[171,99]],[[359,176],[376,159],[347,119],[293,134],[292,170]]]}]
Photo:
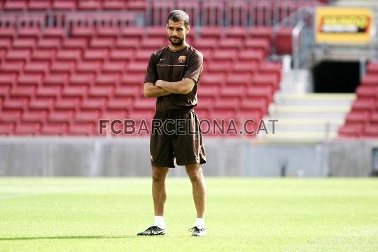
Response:
[{"label": "bright green grass pitch under the standing man", "polygon": [[167,236],[150,178],[0,178],[0,251],[378,251],[374,178],[207,178],[206,237],[192,237],[188,178],[168,178]]}]

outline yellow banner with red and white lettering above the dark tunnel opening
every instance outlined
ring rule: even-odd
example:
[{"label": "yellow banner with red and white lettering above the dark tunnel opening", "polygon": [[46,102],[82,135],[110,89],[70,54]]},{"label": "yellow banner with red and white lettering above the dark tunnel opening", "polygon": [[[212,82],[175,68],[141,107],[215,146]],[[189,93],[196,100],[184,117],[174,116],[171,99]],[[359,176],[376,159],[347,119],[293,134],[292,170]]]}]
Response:
[{"label": "yellow banner with red and white lettering above the dark tunnel opening", "polygon": [[367,8],[318,7],[315,16],[316,42],[360,44],[370,42],[372,12]]}]

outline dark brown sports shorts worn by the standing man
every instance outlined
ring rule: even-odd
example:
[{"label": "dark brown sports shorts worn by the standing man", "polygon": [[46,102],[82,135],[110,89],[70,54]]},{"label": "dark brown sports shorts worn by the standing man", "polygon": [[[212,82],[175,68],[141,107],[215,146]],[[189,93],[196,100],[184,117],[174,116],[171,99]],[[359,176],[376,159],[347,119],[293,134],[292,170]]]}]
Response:
[{"label": "dark brown sports shorts worn by the standing man", "polygon": [[151,165],[175,167],[187,164],[205,164],[200,120],[193,109],[156,112],[151,127],[149,144]]}]

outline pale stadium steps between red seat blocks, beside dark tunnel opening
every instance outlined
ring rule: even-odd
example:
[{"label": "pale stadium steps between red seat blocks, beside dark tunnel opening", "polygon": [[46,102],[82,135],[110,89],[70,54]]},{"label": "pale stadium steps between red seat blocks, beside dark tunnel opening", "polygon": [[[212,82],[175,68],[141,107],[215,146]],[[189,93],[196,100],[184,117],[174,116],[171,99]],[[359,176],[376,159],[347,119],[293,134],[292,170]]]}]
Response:
[{"label": "pale stadium steps between red seat blocks, beside dark tunnel opening", "polygon": [[308,70],[292,70],[282,74],[280,91],[275,93],[267,120],[268,134],[258,134],[267,141],[324,141],[336,137],[350,110],[354,94],[309,93]]}]

